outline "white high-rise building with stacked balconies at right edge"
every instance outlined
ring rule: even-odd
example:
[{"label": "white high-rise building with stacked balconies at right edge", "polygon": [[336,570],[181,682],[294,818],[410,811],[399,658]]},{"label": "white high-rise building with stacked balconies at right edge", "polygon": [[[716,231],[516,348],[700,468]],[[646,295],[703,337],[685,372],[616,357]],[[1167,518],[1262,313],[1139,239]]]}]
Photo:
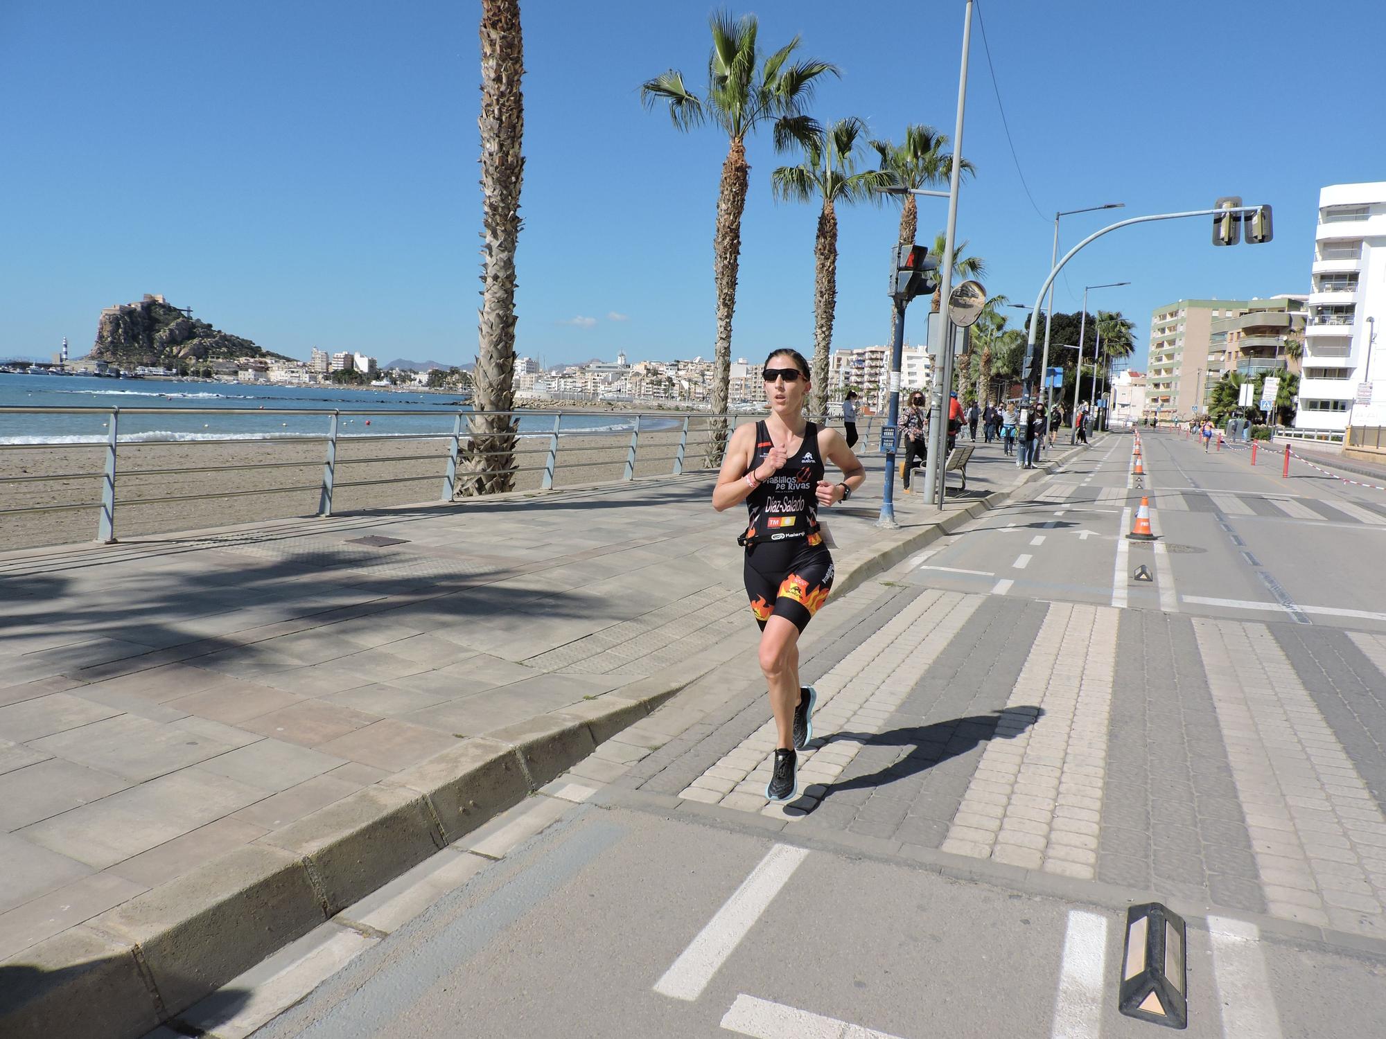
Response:
[{"label": "white high-rise building with stacked balconies at right edge", "polygon": [[[1337,432],[1349,424],[1354,429],[1386,425],[1383,323],[1386,180],[1332,184],[1318,193],[1296,428]],[[1354,409],[1358,387],[1368,381],[1374,384],[1371,403]]]}]

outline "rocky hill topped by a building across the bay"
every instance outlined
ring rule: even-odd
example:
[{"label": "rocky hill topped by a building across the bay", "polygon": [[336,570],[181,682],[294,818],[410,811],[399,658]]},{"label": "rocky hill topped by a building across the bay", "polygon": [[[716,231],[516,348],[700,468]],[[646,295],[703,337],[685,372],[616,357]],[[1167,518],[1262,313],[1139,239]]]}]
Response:
[{"label": "rocky hill topped by a building across the bay", "polygon": [[116,364],[164,364],[177,367],[190,360],[234,360],[237,357],[280,357],[240,335],[223,332],[207,321],[190,317],[164,296],[146,295],[137,303],[108,306],[96,330],[93,360]]}]

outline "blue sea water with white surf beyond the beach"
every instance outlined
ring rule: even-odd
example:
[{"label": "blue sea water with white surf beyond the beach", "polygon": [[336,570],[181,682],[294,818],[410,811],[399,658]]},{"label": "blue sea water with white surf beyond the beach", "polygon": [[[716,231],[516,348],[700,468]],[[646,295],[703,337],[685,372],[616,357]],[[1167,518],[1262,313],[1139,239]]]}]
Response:
[{"label": "blue sea water with white surf beyond the beach", "polygon": [[[8,411],[7,407],[119,407],[122,414],[118,432],[122,443],[326,436],[330,421],[327,413],[334,409],[353,413],[338,420],[338,436],[448,436],[452,435],[457,411],[470,410],[452,393],[0,373],[0,443],[104,443],[111,420],[109,411],[22,414]],[[200,411],[186,414],[172,410],[188,407]],[[151,409],[152,414],[129,414],[125,409]],[[267,413],[226,414],[236,409],[263,409]],[[323,414],[269,413],[273,409]],[[380,414],[402,409],[419,414]],[[679,421],[672,417],[642,418],[640,428],[672,428]],[[572,411],[563,417],[564,434],[629,432],[633,427],[635,417],[620,413]],[[552,431],[552,414],[527,414],[520,418],[523,436],[541,436]]]}]

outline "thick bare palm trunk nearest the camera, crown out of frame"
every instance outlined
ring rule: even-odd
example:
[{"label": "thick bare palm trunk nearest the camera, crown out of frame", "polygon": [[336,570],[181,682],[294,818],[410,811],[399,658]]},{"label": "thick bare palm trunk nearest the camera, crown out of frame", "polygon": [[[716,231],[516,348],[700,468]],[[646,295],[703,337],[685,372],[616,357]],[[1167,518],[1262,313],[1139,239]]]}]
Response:
[{"label": "thick bare palm trunk nearest the camera, crown out of frame", "polygon": [[[520,0],[481,3],[481,312],[477,330],[475,407],[514,407],[516,247],[520,240],[520,184],[524,179],[524,40]],[[514,486],[517,423],[505,414],[474,414],[457,496]]]}]

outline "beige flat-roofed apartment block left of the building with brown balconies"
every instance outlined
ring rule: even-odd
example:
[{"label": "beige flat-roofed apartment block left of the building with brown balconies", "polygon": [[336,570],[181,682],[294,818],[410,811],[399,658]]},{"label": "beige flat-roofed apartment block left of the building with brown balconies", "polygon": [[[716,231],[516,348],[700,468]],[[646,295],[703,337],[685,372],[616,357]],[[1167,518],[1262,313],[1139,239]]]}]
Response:
[{"label": "beige flat-roofed apartment block left of the building with brown balconies", "polygon": [[1213,321],[1245,313],[1247,299],[1178,299],[1150,312],[1148,417],[1163,421],[1203,414],[1222,377],[1225,337],[1214,346]]}]

